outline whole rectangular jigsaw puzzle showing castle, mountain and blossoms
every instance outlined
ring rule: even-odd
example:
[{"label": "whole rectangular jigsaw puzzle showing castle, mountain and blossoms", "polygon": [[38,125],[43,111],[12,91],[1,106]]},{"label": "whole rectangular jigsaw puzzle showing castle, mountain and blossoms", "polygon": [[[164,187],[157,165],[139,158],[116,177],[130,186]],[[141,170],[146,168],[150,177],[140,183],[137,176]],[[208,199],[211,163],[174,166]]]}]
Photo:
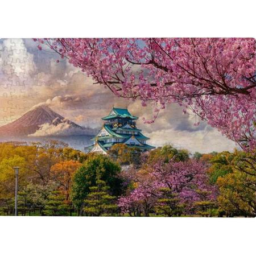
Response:
[{"label": "whole rectangular jigsaw puzzle showing castle, mountain and blossoms", "polygon": [[0,215],[256,215],[255,39],[0,39]]}]

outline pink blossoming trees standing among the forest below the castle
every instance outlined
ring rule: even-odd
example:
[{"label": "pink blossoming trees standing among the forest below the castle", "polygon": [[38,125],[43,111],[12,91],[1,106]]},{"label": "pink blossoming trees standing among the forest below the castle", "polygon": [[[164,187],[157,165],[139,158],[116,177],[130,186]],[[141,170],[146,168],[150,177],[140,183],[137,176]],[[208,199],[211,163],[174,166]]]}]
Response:
[{"label": "pink blossoming trees standing among the forest below the castle", "polygon": [[118,206],[123,213],[149,216],[154,206],[159,204],[159,199],[165,196],[164,190],[168,189],[168,197],[172,193],[177,205],[183,204],[184,213],[190,214],[196,202],[216,201],[217,188],[208,183],[206,170],[207,166],[195,159],[176,162],[173,158],[168,163],[159,161],[137,175],[132,172],[135,188],[119,198]]}]

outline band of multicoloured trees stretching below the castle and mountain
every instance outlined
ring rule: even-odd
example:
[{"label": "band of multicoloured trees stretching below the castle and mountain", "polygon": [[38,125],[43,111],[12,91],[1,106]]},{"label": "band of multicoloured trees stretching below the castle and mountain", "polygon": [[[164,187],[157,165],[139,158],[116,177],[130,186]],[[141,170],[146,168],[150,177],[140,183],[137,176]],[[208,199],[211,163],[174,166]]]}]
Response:
[{"label": "band of multicoloured trees stretching below the castle and mountain", "polygon": [[0,144],[0,215],[255,217],[256,152],[191,154],[115,144],[85,154],[59,141]]}]

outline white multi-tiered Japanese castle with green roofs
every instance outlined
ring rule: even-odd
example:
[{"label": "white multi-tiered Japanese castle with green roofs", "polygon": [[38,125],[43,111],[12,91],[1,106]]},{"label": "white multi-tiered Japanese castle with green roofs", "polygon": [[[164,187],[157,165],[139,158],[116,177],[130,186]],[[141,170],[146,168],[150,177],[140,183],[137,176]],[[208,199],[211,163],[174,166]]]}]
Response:
[{"label": "white multi-tiered Japanese castle with green roofs", "polygon": [[113,108],[109,115],[101,119],[104,120],[104,125],[92,139],[94,144],[85,148],[86,152],[107,154],[116,143],[124,143],[129,147],[140,148],[142,151],[155,148],[146,143],[150,138],[137,129],[135,120],[138,117],[131,115],[127,109]]}]

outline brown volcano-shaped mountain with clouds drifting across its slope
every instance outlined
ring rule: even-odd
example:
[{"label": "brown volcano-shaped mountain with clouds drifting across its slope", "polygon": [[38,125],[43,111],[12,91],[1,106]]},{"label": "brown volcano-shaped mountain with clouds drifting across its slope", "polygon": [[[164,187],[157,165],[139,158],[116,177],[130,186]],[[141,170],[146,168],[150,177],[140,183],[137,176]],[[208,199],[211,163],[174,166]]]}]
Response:
[{"label": "brown volcano-shaped mountain with clouds drifting across its slope", "polygon": [[94,130],[85,128],[57,114],[48,106],[32,108],[14,122],[0,127],[0,136],[69,136],[90,135]]}]

